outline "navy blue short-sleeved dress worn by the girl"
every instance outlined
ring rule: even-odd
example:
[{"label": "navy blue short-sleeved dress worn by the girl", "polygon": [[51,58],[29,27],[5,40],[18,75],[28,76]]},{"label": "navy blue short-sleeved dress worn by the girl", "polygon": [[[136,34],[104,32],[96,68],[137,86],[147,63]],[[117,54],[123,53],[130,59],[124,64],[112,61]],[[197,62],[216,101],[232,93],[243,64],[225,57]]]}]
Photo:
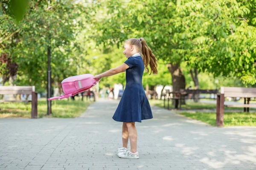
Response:
[{"label": "navy blue short-sleeved dress worn by the girl", "polygon": [[144,63],[140,55],[129,57],[126,69],[125,91],[113,115],[118,122],[141,122],[152,119],[152,111],[142,86]]}]

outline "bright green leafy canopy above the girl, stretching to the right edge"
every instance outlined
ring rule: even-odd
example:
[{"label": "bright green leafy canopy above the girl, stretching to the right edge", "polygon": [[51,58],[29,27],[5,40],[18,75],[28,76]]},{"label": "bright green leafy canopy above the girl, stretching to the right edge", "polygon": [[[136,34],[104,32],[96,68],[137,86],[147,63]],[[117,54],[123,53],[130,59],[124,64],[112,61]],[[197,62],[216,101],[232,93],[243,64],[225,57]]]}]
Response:
[{"label": "bright green leafy canopy above the girl, stretching to the right edge", "polygon": [[157,59],[256,83],[253,0],[106,0],[96,8],[105,14],[94,20],[98,44],[145,37]]}]

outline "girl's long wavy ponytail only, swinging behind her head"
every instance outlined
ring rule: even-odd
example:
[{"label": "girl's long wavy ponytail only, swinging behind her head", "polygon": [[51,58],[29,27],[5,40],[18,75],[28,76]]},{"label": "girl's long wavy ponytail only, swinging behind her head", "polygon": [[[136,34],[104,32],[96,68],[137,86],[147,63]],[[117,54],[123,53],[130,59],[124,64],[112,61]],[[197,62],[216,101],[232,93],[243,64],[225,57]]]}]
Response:
[{"label": "girl's long wavy ponytail only, swinging behind her head", "polygon": [[[153,72],[153,74],[157,74],[157,59],[155,55],[152,53],[152,50],[148,47],[147,42],[144,40],[144,38],[139,38],[142,45],[142,54],[143,54],[143,62],[145,65],[145,69],[148,72],[148,64],[151,68],[150,74]],[[150,75],[149,74],[149,75]]]}]

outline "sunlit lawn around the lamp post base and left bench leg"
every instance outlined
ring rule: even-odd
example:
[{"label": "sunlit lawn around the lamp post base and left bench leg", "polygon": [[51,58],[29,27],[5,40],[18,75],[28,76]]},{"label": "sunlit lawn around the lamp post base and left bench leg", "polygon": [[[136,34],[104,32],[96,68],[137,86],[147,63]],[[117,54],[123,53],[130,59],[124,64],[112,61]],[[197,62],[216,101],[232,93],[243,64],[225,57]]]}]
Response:
[{"label": "sunlit lawn around the lamp post base and left bench leg", "polygon": [[[91,101],[81,100],[52,100],[52,114],[47,116],[47,100],[38,100],[38,118],[58,117],[58,118],[74,118],[78,117],[86,111]],[[30,118],[31,117],[31,102],[21,103],[1,103],[0,118]]]}]

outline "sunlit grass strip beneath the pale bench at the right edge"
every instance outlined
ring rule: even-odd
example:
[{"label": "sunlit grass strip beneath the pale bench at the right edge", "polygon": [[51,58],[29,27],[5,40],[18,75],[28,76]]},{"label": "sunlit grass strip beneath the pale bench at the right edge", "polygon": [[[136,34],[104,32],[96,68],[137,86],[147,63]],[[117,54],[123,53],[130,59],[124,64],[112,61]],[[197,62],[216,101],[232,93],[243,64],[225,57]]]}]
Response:
[{"label": "sunlit grass strip beneath the pale bench at the right edge", "polygon": [[[183,112],[179,114],[215,126],[216,113]],[[256,113],[224,113],[224,126],[256,126]]]}]

